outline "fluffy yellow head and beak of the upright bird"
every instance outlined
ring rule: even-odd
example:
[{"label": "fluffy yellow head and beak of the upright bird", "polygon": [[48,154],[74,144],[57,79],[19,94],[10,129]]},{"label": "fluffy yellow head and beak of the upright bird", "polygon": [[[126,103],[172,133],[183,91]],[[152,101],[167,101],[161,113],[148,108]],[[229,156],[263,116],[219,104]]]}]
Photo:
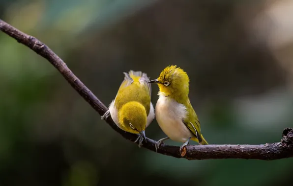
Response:
[{"label": "fluffy yellow head and beak of the upright bird", "polygon": [[149,83],[157,83],[160,93],[165,96],[177,97],[189,93],[188,75],[184,70],[177,68],[176,65],[166,67],[162,70],[158,79],[149,81]]}]

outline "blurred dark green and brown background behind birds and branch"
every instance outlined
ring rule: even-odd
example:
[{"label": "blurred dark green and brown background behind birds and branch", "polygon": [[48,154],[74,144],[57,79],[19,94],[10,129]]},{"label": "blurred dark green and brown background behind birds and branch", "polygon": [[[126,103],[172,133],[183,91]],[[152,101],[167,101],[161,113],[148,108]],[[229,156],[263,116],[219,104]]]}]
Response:
[{"label": "blurred dark green and brown background behind birds and branch", "polygon": [[[293,127],[292,14],[293,0],[0,0],[0,19],[51,47],[106,105],[123,71],[154,79],[183,68],[216,144],[277,142]],[[146,135],[165,137],[155,120]],[[274,186],[291,183],[292,166],[138,148],[50,63],[0,32],[0,186]]]}]

